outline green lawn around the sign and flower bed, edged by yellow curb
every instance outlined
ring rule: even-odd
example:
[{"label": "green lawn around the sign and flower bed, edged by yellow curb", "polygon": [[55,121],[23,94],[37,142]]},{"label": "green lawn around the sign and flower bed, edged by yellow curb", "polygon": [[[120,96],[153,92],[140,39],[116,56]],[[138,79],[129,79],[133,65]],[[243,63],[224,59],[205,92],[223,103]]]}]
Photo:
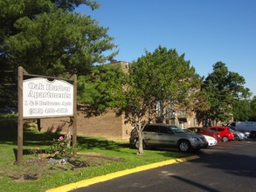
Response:
[{"label": "green lawn around the sign and flower bed, edged by yellow curb", "polygon": [[1,191],[45,191],[95,176],[190,155],[178,153],[176,149],[145,150],[144,154],[137,155],[137,149],[131,148],[128,142],[79,136],[78,154],[84,155],[79,155],[73,164],[52,165],[38,161],[38,157],[29,152],[34,147],[49,147],[59,134],[38,133],[35,130],[33,127],[24,130],[24,163],[17,166],[17,116],[0,115]]}]

